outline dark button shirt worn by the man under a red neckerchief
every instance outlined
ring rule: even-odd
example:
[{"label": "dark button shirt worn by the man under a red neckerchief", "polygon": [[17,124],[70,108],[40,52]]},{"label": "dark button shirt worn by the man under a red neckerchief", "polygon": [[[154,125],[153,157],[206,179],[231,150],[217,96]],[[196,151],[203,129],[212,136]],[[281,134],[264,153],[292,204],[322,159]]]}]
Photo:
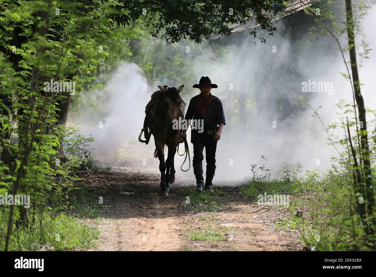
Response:
[{"label": "dark button shirt worn by the man under a red neckerchief", "polygon": [[[212,99],[211,103],[209,104],[209,106],[206,108],[204,117],[202,117],[199,113],[199,110],[197,109],[197,97],[198,96],[200,96],[200,94],[194,96],[191,99],[191,101],[188,105],[188,109],[186,111],[184,119],[186,119],[186,120],[189,120],[189,119],[204,119],[204,130],[216,129],[217,124],[220,124],[220,123],[226,124],[221,100],[217,96],[213,95],[213,99]],[[207,101],[207,100],[204,99],[204,102],[205,101]],[[213,101],[217,101],[217,122],[215,122],[214,115],[213,115],[213,113],[214,113],[214,111],[213,111]]]}]

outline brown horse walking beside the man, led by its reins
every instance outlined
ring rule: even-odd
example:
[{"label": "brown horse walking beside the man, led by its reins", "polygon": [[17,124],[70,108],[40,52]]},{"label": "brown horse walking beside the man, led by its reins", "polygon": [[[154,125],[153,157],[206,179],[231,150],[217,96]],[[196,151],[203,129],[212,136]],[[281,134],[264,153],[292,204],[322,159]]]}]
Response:
[{"label": "brown horse walking beside the man, led by its reins", "polygon": [[[161,171],[161,191],[159,195],[167,196],[167,191],[170,190],[169,184],[175,181],[174,156],[176,147],[179,144],[179,130],[173,129],[173,120],[179,120],[180,116],[184,116],[180,112],[180,106],[183,104],[185,107],[185,102],[180,97],[180,92],[183,90],[184,85],[180,86],[179,89],[176,89],[176,87],[168,87],[167,89],[162,86],[158,87],[163,96],[152,113],[149,129],[152,130],[154,136],[154,158],[159,159],[159,171]],[[168,147],[166,161],[164,160],[165,145]]]}]

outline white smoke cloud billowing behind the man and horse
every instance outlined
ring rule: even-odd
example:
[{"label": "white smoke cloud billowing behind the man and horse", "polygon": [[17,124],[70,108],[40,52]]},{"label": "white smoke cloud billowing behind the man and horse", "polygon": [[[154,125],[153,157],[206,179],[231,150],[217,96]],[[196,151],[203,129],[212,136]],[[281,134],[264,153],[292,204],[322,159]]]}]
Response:
[{"label": "white smoke cloud billowing behind the man and horse", "polygon": [[[373,28],[375,16],[375,11],[370,10],[362,21],[364,33],[367,34],[365,40],[371,49],[376,44]],[[335,104],[340,99],[352,103],[351,87],[339,74],[346,71],[340,52],[335,49],[336,44],[331,37],[320,38],[321,42],[309,44],[308,34],[300,34],[290,39],[289,37],[294,34],[288,34],[289,31],[285,30],[287,26],[280,27],[274,37],[267,38],[266,44],[259,43],[257,46],[253,45],[253,38],[247,32],[238,35],[238,44],[230,48],[231,52],[228,53],[226,63],[209,60],[203,64],[202,59],[197,59],[195,66],[197,83],[201,76],[209,76],[212,83],[218,84],[218,89],[212,89],[212,94],[221,99],[226,116],[227,124],[217,145],[215,173],[217,180],[239,179],[249,175],[250,164],[258,162],[261,155],[268,159],[264,163],[272,173],[282,167],[284,162],[288,164],[299,162],[303,165],[303,170],[318,168],[325,170],[329,168],[332,157],[338,157],[334,147],[327,145],[324,127],[318,118],[312,117],[312,110],[300,108],[296,115],[279,119],[277,115],[280,114],[280,105],[274,99],[276,90],[279,90],[288,99],[288,105],[298,105],[293,99],[303,98],[309,94],[301,91],[302,82],[309,79],[332,82],[332,95],[328,95],[330,93],[327,92],[312,92],[309,95],[310,103],[314,108],[321,106],[318,113],[325,125],[338,121],[334,110]],[[360,40],[361,38],[357,39],[357,46],[360,45]],[[293,52],[291,49],[299,49],[299,44],[302,46],[300,51]],[[276,46],[276,53],[272,51],[273,46]],[[196,51],[195,55],[205,56],[205,53],[210,52],[208,43],[197,47],[202,51]],[[371,51],[368,55],[369,59],[362,61],[363,67],[360,69],[360,78],[364,84],[362,94],[366,106],[370,109],[376,109],[373,92],[375,55],[375,52]],[[114,155],[121,144],[134,144],[137,145],[137,149],[139,148],[140,142],[137,142],[137,137],[143,126],[145,106],[150,100],[150,95],[158,90],[157,85],[160,85],[146,86],[146,90],[143,90],[147,81],[141,76],[140,71],[141,69],[135,64],[124,63],[106,85],[105,90],[109,93],[110,99],[101,107],[111,115],[103,118],[103,128],[99,128],[98,123],[82,130],[83,133],[94,136],[95,155]],[[261,75],[260,72],[264,74]],[[284,79],[282,83],[281,76]],[[277,80],[278,86],[274,84],[274,80]],[[233,90],[229,90],[229,84],[233,85]],[[169,85],[178,87],[180,84]],[[187,103],[193,95],[199,94],[199,90],[193,89],[192,85],[185,84],[181,94]],[[93,93],[102,92],[97,90]],[[242,93],[244,98],[236,96]],[[249,110],[238,110],[243,104],[240,102],[246,99],[248,102],[245,105]],[[246,126],[238,121],[241,116],[234,115],[245,115]],[[70,124],[73,122],[85,124],[85,121],[85,112],[80,117],[68,119]],[[273,121],[276,128],[273,128]],[[188,141],[190,141],[189,133],[187,133]],[[242,133],[243,136],[239,136]],[[338,135],[343,135],[343,131],[338,130]],[[144,158],[152,158],[155,148],[153,138],[148,145],[141,146],[144,147],[145,152],[143,151],[142,155],[135,153],[135,158],[140,161]],[[342,151],[339,146],[338,149]],[[190,153],[192,162],[192,144],[190,144]],[[183,174],[193,176],[192,167],[187,173],[180,171],[183,159],[184,157],[176,155],[177,176]],[[320,161],[319,167],[317,167],[317,159]],[[205,172],[205,158],[203,163]],[[152,166],[158,171],[158,165],[154,163]],[[142,171],[143,168],[140,170]]]}]

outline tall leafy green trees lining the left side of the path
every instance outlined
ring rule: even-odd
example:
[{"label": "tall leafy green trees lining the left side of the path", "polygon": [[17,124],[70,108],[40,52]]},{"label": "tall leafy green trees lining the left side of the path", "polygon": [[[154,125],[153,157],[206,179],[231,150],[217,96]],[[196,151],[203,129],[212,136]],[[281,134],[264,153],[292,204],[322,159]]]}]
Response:
[{"label": "tall leafy green trees lining the left side of the path", "polygon": [[[110,6],[121,3],[0,3],[0,190],[29,194],[32,202],[28,209],[14,208],[12,233],[21,236],[26,229],[43,233],[47,211],[58,212],[56,220],[61,217],[62,203],[79,179],[75,170],[91,168],[92,138],[64,126],[68,110],[64,105],[76,91],[101,87],[95,75],[110,71],[129,54],[120,49],[135,33],[111,20]],[[117,54],[110,55],[111,51]],[[70,82],[74,90],[49,90],[44,82],[50,80]],[[13,215],[9,207],[2,207],[2,216],[9,211]],[[5,236],[2,233],[1,239]]]}]

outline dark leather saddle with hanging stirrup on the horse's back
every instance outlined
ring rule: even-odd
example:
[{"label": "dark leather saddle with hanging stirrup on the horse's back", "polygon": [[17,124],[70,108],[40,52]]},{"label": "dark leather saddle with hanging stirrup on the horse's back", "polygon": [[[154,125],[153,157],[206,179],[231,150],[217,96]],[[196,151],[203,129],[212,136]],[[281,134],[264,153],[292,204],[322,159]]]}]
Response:
[{"label": "dark leather saddle with hanging stirrup on the horse's back", "polygon": [[[164,86],[164,88],[167,89],[167,86]],[[143,129],[141,129],[141,133],[138,136],[139,142],[145,142],[145,144],[149,143],[150,137],[152,136],[154,125],[156,125],[156,124],[163,126],[163,128],[166,127],[165,131],[167,131],[168,122],[162,121],[161,119],[157,118],[154,114],[159,102],[163,99],[163,95],[164,95],[164,93],[161,92],[160,90],[158,90],[158,91],[156,91],[152,94],[152,97],[151,97],[149,103],[147,103],[147,105],[145,107],[145,114],[146,115],[145,115],[145,119],[144,119],[144,126],[143,126]],[[182,101],[180,103],[180,115],[179,116],[183,117],[186,102],[183,99],[181,99],[181,100]],[[151,123],[151,124],[149,124],[149,123]],[[150,130],[149,130],[149,125],[150,125]],[[182,139],[182,136],[181,136],[182,131],[183,130],[179,131],[179,133],[180,133],[179,143],[183,142],[183,139]],[[144,140],[141,139],[143,132],[144,132],[144,137],[145,137]]]}]

